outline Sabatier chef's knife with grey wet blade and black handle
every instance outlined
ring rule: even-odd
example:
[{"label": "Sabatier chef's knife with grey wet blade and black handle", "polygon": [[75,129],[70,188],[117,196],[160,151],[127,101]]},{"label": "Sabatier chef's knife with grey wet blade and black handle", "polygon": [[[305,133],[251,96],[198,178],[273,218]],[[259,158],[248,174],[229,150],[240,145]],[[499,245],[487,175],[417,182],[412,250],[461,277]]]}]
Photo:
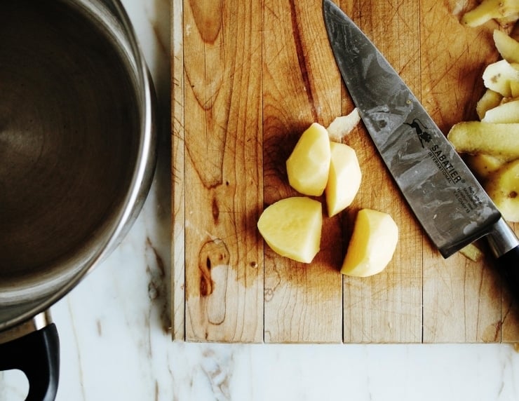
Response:
[{"label": "Sabatier chef's knife with grey wet blade and black handle", "polygon": [[424,231],[443,257],[486,236],[519,297],[519,240],[382,53],[330,0],[332,52],[365,128]]}]

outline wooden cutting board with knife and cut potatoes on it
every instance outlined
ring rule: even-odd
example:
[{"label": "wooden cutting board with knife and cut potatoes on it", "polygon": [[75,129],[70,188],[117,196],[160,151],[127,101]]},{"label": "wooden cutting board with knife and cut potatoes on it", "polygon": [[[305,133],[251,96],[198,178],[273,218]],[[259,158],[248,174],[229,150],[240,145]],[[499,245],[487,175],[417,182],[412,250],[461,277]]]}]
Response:
[{"label": "wooden cutting board with knife and cut potatoes on it", "polygon": [[[463,4],[461,4],[463,3]],[[461,4],[461,5],[460,5]],[[476,1],[348,0],[446,133],[476,118],[481,75],[497,60],[493,22],[459,23]],[[515,342],[519,314],[490,258],[443,259],[363,125],[346,139],[363,183],[325,218],[309,265],[274,254],[256,222],[296,195],[285,159],[310,123],[353,109],[318,0],[173,0],[173,299],[175,339],[250,343]],[[339,273],[359,208],[400,227],[393,261],[372,278]],[[444,217],[448,219],[448,216]]]}]

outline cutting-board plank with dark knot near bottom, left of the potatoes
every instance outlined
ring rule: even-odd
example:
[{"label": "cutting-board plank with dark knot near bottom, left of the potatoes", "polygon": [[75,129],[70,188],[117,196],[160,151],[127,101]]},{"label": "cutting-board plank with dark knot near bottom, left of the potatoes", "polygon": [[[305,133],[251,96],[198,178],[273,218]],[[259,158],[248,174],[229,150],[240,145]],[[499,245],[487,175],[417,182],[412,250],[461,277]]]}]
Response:
[{"label": "cutting-board plank with dark knot near bottom, left of the potatoes", "polygon": [[191,0],[183,9],[186,338],[258,342],[260,3]]}]

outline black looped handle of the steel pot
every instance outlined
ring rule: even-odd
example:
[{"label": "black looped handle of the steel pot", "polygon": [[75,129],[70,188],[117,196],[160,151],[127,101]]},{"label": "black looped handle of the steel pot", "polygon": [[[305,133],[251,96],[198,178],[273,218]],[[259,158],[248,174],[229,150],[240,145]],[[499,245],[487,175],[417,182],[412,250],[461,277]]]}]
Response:
[{"label": "black looped handle of the steel pot", "polygon": [[20,369],[29,381],[25,401],[53,401],[60,378],[60,340],[54,323],[0,344],[0,370]]}]

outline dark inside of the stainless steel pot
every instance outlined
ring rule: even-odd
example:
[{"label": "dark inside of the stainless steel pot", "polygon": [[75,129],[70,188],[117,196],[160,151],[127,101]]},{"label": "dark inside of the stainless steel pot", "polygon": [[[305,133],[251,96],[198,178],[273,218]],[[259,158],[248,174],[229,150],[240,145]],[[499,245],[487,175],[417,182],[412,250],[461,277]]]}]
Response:
[{"label": "dark inside of the stainless steel pot", "polygon": [[70,4],[7,1],[0,12],[5,302],[20,288],[29,299],[42,285],[53,291],[88,264],[116,224],[136,165],[140,117],[128,60],[106,27]]}]

